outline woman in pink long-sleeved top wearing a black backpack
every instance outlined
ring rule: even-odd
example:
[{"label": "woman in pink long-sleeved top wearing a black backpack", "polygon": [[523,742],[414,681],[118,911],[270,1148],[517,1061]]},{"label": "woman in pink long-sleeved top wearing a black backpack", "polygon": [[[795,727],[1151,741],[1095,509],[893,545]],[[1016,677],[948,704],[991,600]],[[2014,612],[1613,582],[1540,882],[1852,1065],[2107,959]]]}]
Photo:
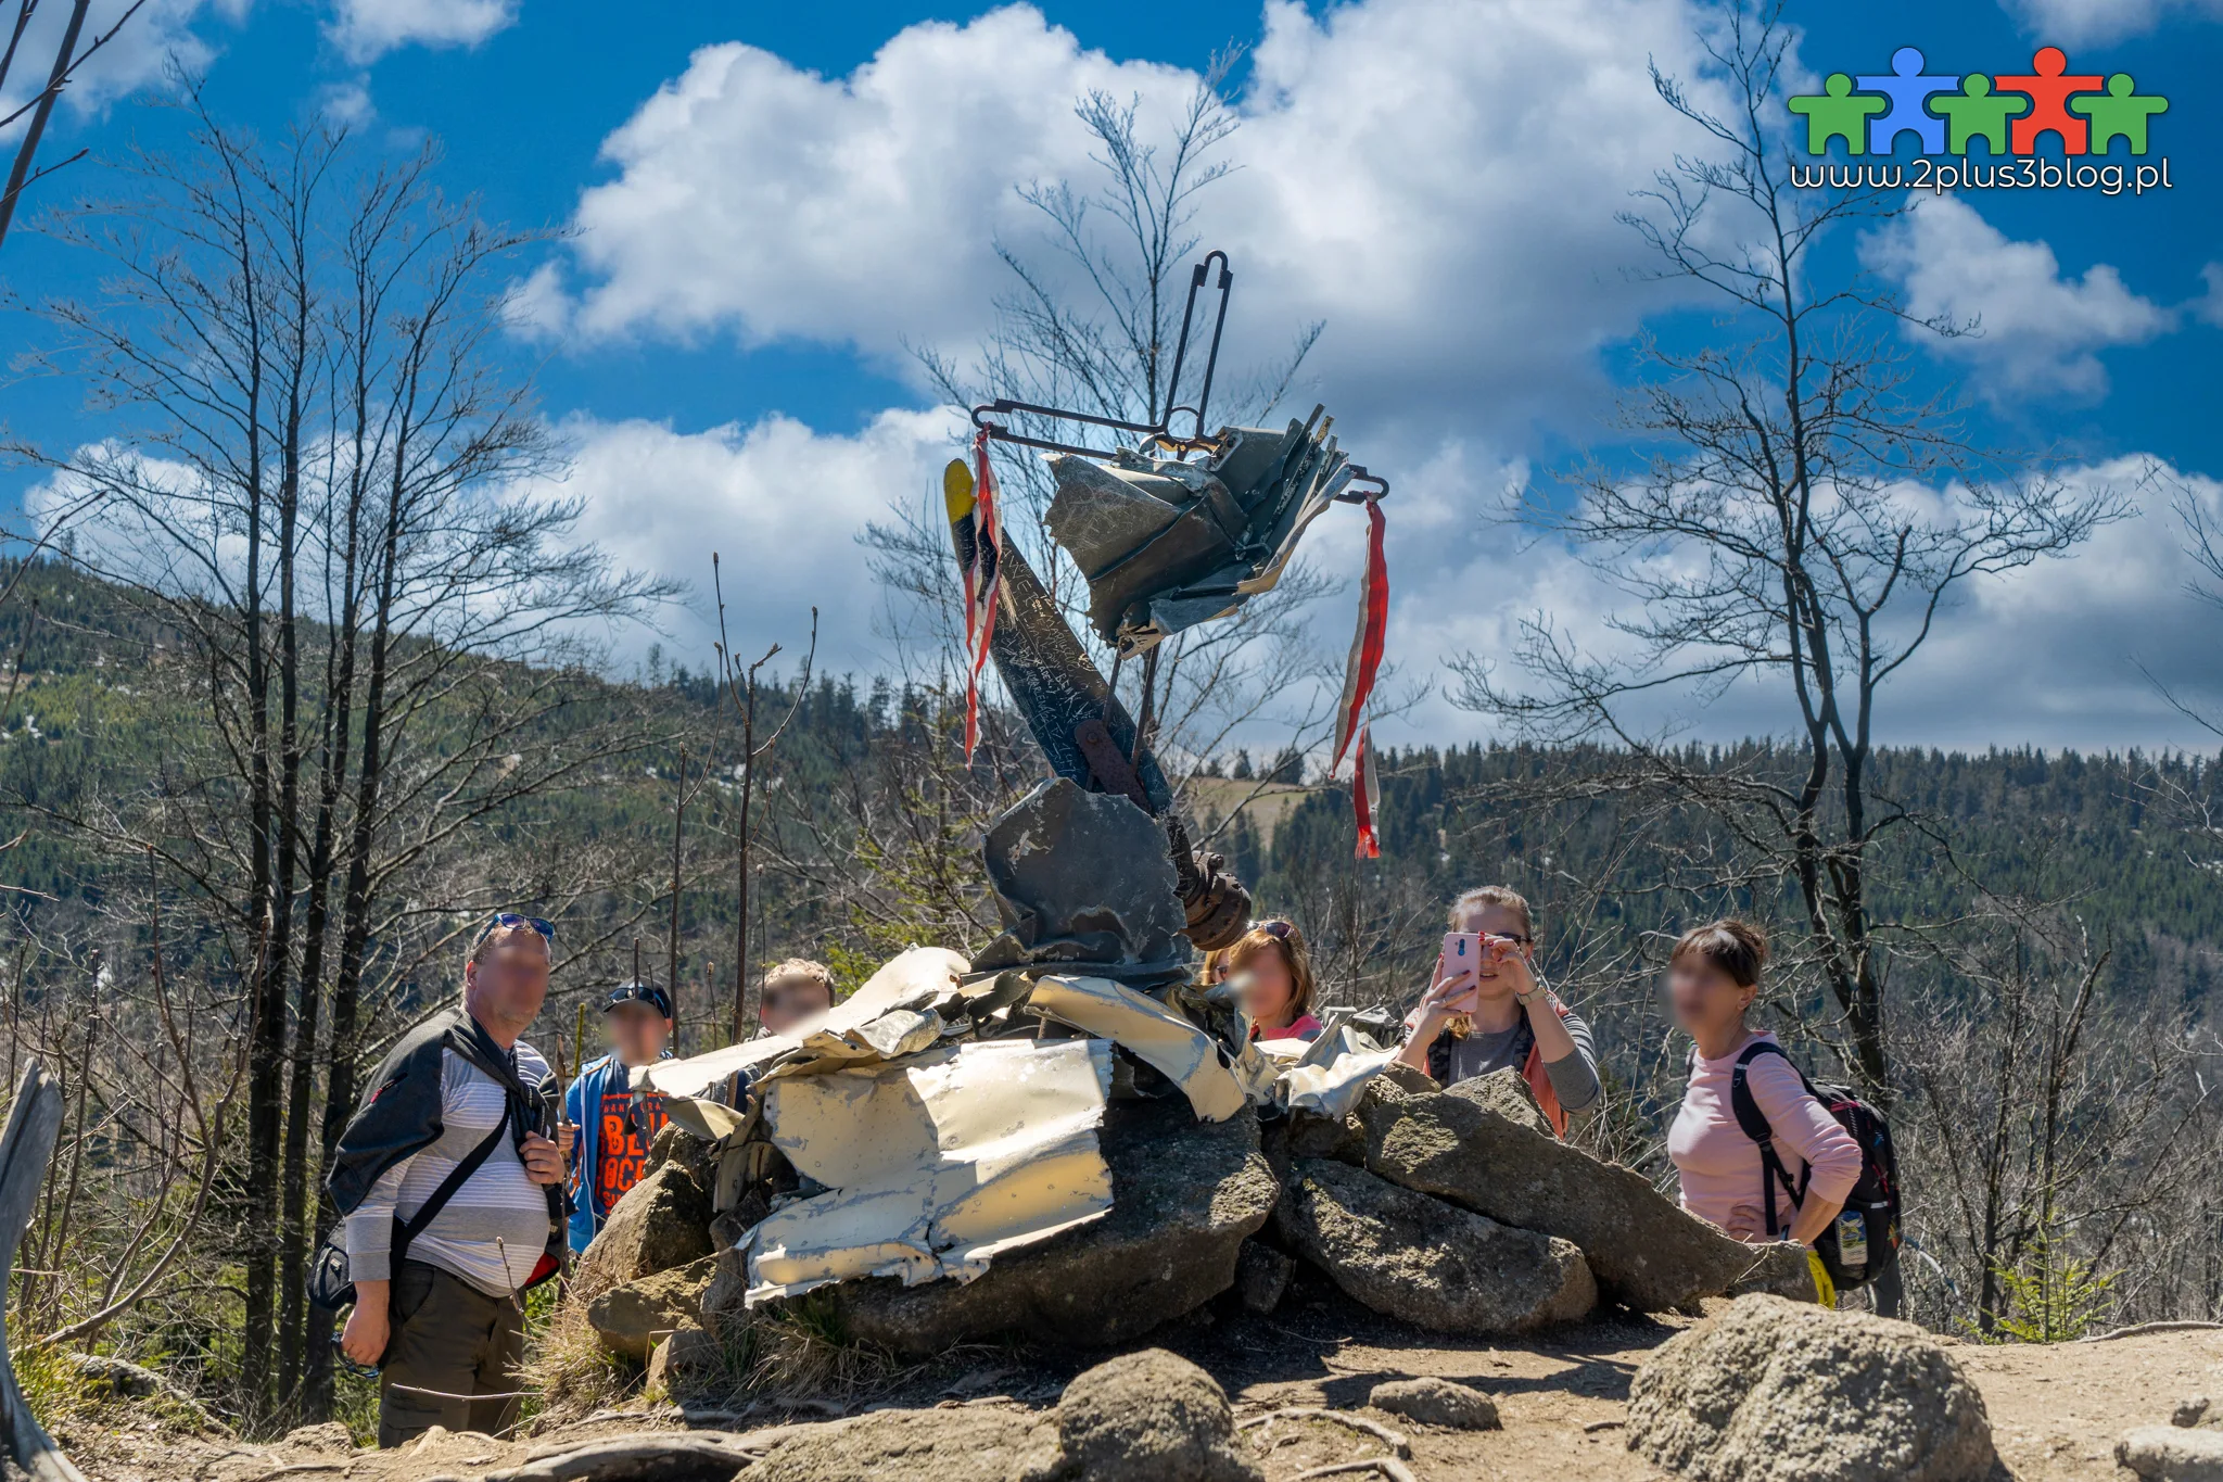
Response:
[{"label": "woman in pink long-sleeved top wearing a black backpack", "polygon": [[1729,1107],[1738,1053],[1754,1040],[1774,1038],[1745,1027],[1765,967],[1767,938],[1741,920],[1698,927],[1674,944],[1667,998],[1696,1049],[1683,1109],[1667,1129],[1667,1155],[1683,1175],[1683,1209],[1738,1240],[1761,1242],[1770,1226],[1763,1200],[1770,1200],[1776,1231],[1790,1231],[1778,1238],[1810,1246],[1861,1180],[1861,1144],[1807,1093],[1790,1060],[1756,1055],[1745,1067],[1745,1084],[1776,1133],[1776,1158],[1794,1186],[1801,1169],[1812,1169],[1796,1206],[1783,1189],[1770,1186],[1761,1144],[1743,1133]]}]

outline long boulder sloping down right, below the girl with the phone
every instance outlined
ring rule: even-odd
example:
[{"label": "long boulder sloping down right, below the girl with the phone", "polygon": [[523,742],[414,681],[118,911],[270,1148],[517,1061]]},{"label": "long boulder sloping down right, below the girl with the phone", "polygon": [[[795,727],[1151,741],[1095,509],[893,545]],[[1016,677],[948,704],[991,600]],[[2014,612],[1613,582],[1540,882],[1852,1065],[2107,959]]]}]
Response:
[{"label": "long boulder sloping down right, below the girl with the phone", "polygon": [[1369,1082],[1356,1111],[1367,1169],[1501,1224],[1572,1240],[1605,1298],[1636,1311],[1687,1309],[1747,1282],[1796,1291],[1796,1278],[1812,1291],[1794,1246],[1732,1240],[1634,1169],[1492,1109],[1496,1089],[1467,1084]]}]

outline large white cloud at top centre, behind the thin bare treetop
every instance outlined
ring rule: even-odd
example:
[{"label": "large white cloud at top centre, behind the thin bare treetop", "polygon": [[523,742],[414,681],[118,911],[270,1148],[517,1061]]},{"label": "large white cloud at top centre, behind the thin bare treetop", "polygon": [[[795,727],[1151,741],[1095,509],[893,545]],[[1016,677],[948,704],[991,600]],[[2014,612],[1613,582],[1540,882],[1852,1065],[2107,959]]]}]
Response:
[{"label": "large white cloud at top centre, behind the thin bare treetop", "polygon": [[[1320,391],[1352,427],[1516,427],[1594,384],[1596,347],[1665,302],[1627,278],[1638,244],[1614,213],[1698,147],[1645,71],[1698,78],[1698,18],[1681,0],[1269,4],[1238,169],[1198,198],[1203,242],[1236,267],[1229,356],[1267,360],[1325,320]],[[1014,187],[1091,184],[1074,100],[1140,96],[1163,136],[1194,84],[1025,4],[907,27],[843,78],[705,47],[609,136],[616,176],[580,196],[569,271],[529,309],[589,340],[963,353],[1011,287],[996,244],[1054,260]]]}]

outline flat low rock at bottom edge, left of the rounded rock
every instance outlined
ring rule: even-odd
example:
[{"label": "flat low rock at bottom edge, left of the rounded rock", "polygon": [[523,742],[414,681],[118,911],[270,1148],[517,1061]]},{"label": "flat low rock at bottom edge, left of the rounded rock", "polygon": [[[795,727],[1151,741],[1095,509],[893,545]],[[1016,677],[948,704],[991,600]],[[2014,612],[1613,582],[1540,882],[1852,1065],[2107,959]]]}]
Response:
[{"label": "flat low rock at bottom edge, left of the rounded rock", "polygon": [[1047,1415],[1025,1411],[871,1411],[789,1431],[762,1462],[742,1473],[749,1482],[1016,1482],[1054,1475],[1058,1464],[1056,1426]]}]

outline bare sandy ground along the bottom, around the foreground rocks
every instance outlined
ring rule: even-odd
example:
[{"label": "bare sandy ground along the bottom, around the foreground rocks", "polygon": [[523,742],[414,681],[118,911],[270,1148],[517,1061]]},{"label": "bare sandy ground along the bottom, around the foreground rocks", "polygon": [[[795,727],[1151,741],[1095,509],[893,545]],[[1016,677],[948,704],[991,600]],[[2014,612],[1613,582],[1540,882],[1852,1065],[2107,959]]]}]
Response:
[{"label": "bare sandy ground along the bottom, around the foreground rocks", "polygon": [[[1536,1342],[1461,1342],[1387,1322],[1325,1286],[1300,1284],[1272,1318],[1200,1313],[1160,1333],[1167,1349],[1209,1369],[1227,1386],[1238,1424],[1285,1406],[1352,1411],[1412,1442],[1409,1466],[1423,1482],[1507,1478],[1576,1482],[1661,1478],[1625,1446],[1629,1378],[1678,1322],[1618,1320],[1565,1329]],[[2119,1478],[2114,1442],[2141,1424],[2165,1424],[2170,1409],[2199,1393],[2223,1395],[2223,1331],[2156,1333],[2096,1344],[1952,1344],[1983,1391],[1992,1435],[2016,1482]],[[1100,1358],[1100,1355],[1098,1355]],[[914,1375],[871,1404],[1027,1404],[1056,1402],[1087,1355],[991,1353],[960,1366]],[[1392,1378],[1441,1375],[1489,1393],[1501,1431],[1441,1431],[1369,1411],[1367,1393]],[[863,1409],[863,1406],[858,1406]],[[762,1411],[727,1420],[751,1429],[811,1420]],[[442,1435],[416,1453],[380,1455],[333,1446],[249,1446],[160,1435],[138,1429],[64,1429],[62,1442],[96,1482],[467,1482],[514,1466],[560,1435],[616,1435],[680,1424],[674,1415],[611,1415],[562,1433],[516,1442]],[[1269,1482],[1327,1462],[1378,1455],[1360,1431],[1316,1420],[1272,1420],[1243,1431]],[[1363,1473],[1360,1473],[1363,1475]]]}]

